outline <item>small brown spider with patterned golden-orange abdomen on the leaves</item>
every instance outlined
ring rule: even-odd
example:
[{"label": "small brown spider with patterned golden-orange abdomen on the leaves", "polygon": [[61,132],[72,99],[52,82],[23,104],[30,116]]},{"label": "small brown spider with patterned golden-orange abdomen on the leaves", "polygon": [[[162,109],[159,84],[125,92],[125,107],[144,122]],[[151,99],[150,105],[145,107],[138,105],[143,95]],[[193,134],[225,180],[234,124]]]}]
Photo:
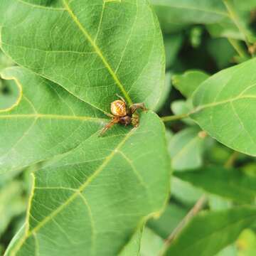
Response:
[{"label": "small brown spider with patterned golden-orange abdomen on the leaves", "polygon": [[127,107],[124,98],[119,95],[117,96],[120,100],[114,100],[114,102],[111,103],[110,109],[112,114],[107,114],[112,120],[102,129],[100,136],[117,123],[123,124],[124,126],[132,124],[134,127],[137,127],[139,125],[139,117],[133,117],[134,112],[138,109],[146,110],[144,103],[136,103]]}]

